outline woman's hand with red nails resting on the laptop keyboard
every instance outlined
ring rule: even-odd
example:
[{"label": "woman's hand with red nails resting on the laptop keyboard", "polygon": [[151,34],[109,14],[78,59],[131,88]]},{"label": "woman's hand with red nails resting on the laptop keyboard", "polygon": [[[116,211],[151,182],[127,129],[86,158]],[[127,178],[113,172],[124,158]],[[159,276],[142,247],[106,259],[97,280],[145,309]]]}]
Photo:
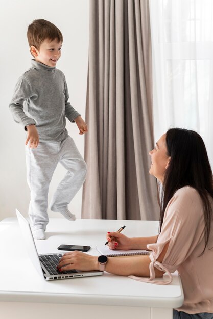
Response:
[{"label": "woman's hand with red nails resting on the laptop keyboard", "polygon": [[99,270],[98,257],[82,253],[81,251],[68,252],[59,260],[57,269],[60,272],[71,269],[82,271]]}]

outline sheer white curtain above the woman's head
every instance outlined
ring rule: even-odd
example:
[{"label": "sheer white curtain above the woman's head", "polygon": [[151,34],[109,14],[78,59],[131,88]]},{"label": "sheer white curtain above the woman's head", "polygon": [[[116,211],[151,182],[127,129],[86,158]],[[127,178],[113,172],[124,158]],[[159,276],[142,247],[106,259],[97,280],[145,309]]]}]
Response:
[{"label": "sheer white curtain above the woman's head", "polygon": [[213,166],[213,0],[150,0],[154,132],[193,129]]}]

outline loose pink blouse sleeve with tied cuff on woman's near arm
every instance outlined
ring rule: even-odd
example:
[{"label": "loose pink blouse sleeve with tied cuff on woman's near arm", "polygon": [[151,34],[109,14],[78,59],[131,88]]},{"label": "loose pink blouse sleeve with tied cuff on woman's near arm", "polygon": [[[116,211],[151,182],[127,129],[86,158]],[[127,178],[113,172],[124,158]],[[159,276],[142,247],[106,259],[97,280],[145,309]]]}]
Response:
[{"label": "loose pink blouse sleeve with tied cuff on woman's near arm", "polygon": [[[197,191],[190,187],[178,190],[165,210],[157,242],[147,245],[147,248],[151,250],[150,278],[136,276],[130,276],[130,278],[158,284],[170,283],[171,273],[178,269],[203,239],[204,224],[202,201]],[[167,243],[169,243],[168,250],[160,263],[157,259]],[[170,279],[154,281],[154,267],[167,272]]]}]

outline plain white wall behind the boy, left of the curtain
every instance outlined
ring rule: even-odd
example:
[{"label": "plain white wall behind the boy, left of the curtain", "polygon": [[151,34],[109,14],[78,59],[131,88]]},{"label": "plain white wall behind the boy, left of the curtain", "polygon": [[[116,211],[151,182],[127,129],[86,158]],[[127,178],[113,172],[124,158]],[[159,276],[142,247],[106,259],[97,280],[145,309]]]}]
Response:
[{"label": "plain white wall behind the boy, left of the curtain", "polygon": [[[88,0],[0,0],[0,220],[15,216],[17,207],[28,214],[30,191],[26,181],[25,132],[8,110],[18,77],[31,65],[27,28],[34,19],[46,19],[61,30],[64,42],[57,68],[66,76],[69,101],[85,118],[88,68],[89,1]],[[84,155],[84,136],[76,124],[67,121],[67,129]],[[49,199],[64,175],[58,165],[50,185]],[[81,217],[82,189],[69,205]],[[50,217],[60,217],[49,210]]]}]

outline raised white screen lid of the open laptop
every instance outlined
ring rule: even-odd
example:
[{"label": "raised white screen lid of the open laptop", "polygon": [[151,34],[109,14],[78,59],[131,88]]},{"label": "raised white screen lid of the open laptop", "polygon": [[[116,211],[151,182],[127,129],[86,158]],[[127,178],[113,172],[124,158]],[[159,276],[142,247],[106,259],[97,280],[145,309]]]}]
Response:
[{"label": "raised white screen lid of the open laptop", "polygon": [[33,239],[33,234],[30,228],[30,224],[27,221],[27,219],[25,219],[25,217],[23,217],[23,215],[20,213],[20,211],[18,211],[18,209],[15,210],[16,211],[16,215],[18,218],[18,223],[21,229],[21,233],[23,235],[23,240],[25,241],[25,246],[27,248],[27,252],[28,255],[31,259],[31,262],[33,263],[34,267],[37,269],[39,275],[43,278],[43,271],[41,268],[41,264],[38,258],[38,252],[35,246],[35,242]]}]

